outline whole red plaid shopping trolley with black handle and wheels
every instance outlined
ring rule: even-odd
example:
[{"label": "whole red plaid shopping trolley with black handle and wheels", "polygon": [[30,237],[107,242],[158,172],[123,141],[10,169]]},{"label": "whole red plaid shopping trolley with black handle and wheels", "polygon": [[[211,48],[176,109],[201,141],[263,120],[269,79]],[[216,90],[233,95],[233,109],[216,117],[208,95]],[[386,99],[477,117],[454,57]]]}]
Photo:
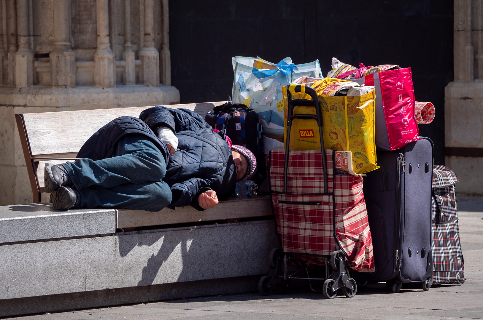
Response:
[{"label": "whole red plaid shopping trolley with black handle and wheels", "polygon": [[[337,153],[334,150],[290,151],[289,137],[292,120],[314,119],[322,137],[322,118],[315,90],[304,85],[291,85],[292,92],[305,89],[313,100],[291,98],[288,94],[288,121],[285,150],[270,153],[270,193],[277,234],[282,250],[270,253],[273,272],[260,278],[259,291],[268,294],[281,267],[282,288],[292,279],[325,280],[322,292],[334,298],[341,289],[353,297],[357,284],[350,278],[347,266],[361,272],[373,272],[372,239],[366,204],[362,193],[362,177],[352,176],[335,169]],[[288,89],[288,88],[287,88]],[[287,90],[289,91],[289,90]],[[295,106],[315,106],[317,115],[293,114]],[[324,144],[321,143],[321,146]],[[328,275],[328,259],[333,269]],[[300,268],[289,274],[287,262],[296,262]],[[325,278],[311,278],[307,263],[325,265]],[[306,277],[297,277],[305,272]]]}]

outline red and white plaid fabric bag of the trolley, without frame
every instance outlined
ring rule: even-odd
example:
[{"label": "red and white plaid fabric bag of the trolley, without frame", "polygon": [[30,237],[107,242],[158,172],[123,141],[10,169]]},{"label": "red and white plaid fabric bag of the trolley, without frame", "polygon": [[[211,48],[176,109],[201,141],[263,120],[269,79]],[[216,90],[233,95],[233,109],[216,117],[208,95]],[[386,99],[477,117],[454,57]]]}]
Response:
[{"label": "red and white plaid fabric bag of the trolley, without frame", "polygon": [[[270,188],[277,233],[284,252],[321,256],[332,254],[337,238],[352,269],[374,272],[362,177],[334,174],[332,152],[326,150],[328,185],[324,194],[320,150],[290,151],[285,194],[285,151],[271,151]],[[320,259],[305,260],[323,264]]]}]

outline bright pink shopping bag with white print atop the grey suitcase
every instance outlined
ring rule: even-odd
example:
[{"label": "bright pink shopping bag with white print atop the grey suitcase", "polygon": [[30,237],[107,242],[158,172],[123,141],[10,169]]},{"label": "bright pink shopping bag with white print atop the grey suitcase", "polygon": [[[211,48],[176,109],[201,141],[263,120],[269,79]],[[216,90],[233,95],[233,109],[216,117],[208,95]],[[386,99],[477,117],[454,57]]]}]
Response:
[{"label": "bright pink shopping bag with white print atop the grey suitcase", "polygon": [[[419,140],[414,118],[411,68],[387,70],[361,78],[376,87],[375,139],[378,150],[396,150]],[[356,80],[357,81],[357,80]]]}]

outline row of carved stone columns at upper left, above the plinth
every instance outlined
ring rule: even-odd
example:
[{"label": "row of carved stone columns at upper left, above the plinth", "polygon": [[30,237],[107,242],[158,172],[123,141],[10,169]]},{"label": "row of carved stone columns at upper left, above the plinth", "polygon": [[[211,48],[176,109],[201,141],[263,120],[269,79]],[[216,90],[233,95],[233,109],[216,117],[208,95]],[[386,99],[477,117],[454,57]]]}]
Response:
[{"label": "row of carved stone columns at upper left, above the plinth", "polygon": [[[0,28],[6,29],[0,37],[0,85],[170,85],[170,72],[159,63],[160,52],[161,59],[169,56],[167,0],[2,0],[0,5],[5,20]],[[126,59],[131,52],[134,60]]]}]

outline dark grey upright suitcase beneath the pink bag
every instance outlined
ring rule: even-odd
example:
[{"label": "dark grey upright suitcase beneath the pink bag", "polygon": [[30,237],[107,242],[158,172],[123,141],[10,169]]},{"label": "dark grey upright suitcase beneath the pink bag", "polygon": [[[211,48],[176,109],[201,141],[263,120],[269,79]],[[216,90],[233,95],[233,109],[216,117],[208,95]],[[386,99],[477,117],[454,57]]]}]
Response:
[{"label": "dark grey upright suitcase beneath the pink bag", "polygon": [[386,281],[393,292],[403,283],[432,284],[430,139],[394,151],[378,151],[379,169],[364,178],[364,196],[374,250],[374,273],[351,274],[359,283]]}]

